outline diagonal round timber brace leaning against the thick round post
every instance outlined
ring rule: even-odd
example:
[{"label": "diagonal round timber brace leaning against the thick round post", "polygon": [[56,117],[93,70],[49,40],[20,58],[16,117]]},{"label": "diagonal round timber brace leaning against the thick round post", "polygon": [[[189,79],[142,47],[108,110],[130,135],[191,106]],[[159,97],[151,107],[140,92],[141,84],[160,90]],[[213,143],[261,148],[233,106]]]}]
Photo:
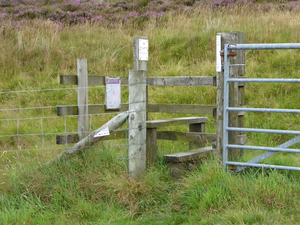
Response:
[{"label": "diagonal round timber brace leaning against the thick round post", "polygon": [[66,149],[64,152],[61,152],[59,155],[57,155],[55,158],[49,160],[46,165],[59,161],[62,158],[65,158],[66,156],[70,156],[75,154],[76,152],[81,152],[82,149],[86,146],[93,146],[98,141],[101,141],[103,137],[94,137],[95,134],[102,131],[104,128],[108,127],[110,132],[113,132],[113,130],[116,130],[120,126],[122,126],[126,120],[128,119],[129,112],[120,113],[117,116],[115,116],[113,119],[102,125],[100,128],[89,134],[87,137],[73,145],[72,147]]}]

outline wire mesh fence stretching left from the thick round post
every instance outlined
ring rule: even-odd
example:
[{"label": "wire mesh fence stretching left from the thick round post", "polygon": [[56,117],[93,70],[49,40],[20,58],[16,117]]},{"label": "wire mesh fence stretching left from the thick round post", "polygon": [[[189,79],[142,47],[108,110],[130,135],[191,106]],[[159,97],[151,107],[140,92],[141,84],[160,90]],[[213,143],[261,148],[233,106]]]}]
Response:
[{"label": "wire mesh fence stretching left from the thick round post", "polygon": [[[128,87],[129,85],[120,85]],[[84,88],[98,88],[104,91],[105,85],[90,86]],[[56,105],[48,106],[35,106],[26,107],[31,104],[24,102],[23,99],[30,99],[32,92],[44,92],[48,94],[50,91],[64,91],[64,90],[78,90],[79,88],[52,88],[41,90],[21,90],[21,91],[1,91],[1,95],[17,95],[22,93],[23,98],[19,99],[20,102],[14,101],[11,107],[4,107],[7,104],[2,104],[0,108],[0,167],[15,167],[21,165],[44,164],[51,160],[59,153],[70,148],[75,143],[66,143],[63,145],[56,144],[57,136],[63,135],[78,135],[77,119],[79,116],[88,116],[88,132],[90,135],[96,129],[100,128],[103,124],[109,121],[113,116],[116,116],[119,111],[112,113],[92,113],[87,115],[70,115],[70,116],[56,116],[54,115],[53,108],[60,106],[59,100]],[[67,96],[65,93],[64,95]],[[25,96],[27,96],[25,98]],[[41,96],[45,98],[45,96]],[[123,96],[123,101],[128,104],[128,96]],[[38,99],[35,99],[38,100]],[[72,101],[72,100],[70,100]],[[95,101],[95,100],[94,100]],[[104,99],[103,99],[104,101]],[[88,106],[105,106],[106,104],[88,104]],[[67,105],[62,106],[87,106],[87,105]],[[49,110],[51,109],[51,110]],[[36,112],[35,110],[41,110]],[[13,112],[13,113],[11,113]],[[18,112],[18,113],[16,113]],[[124,131],[125,136],[121,139],[100,141],[94,146],[86,146],[85,148],[98,148],[98,149],[117,149],[119,152],[119,159],[124,163],[128,160],[128,121],[115,131]],[[126,168],[126,167],[125,167]],[[2,170],[0,168],[0,170]],[[3,170],[2,170],[3,171]],[[127,172],[127,171],[125,171]]]}]

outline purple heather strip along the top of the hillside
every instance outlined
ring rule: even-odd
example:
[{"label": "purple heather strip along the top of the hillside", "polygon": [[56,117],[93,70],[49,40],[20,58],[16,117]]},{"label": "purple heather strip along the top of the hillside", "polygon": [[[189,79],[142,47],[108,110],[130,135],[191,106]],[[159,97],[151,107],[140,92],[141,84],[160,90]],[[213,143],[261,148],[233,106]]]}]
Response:
[{"label": "purple heather strip along the top of the hillside", "polygon": [[268,11],[300,10],[298,1],[281,1],[280,3],[260,2],[256,0],[173,0],[173,1],[89,1],[89,0],[0,0],[0,20],[21,21],[28,19],[49,19],[65,25],[82,22],[99,22],[110,24],[136,20],[138,23],[152,17],[159,18],[166,13],[175,15],[191,13],[197,8],[211,8],[222,11],[235,6],[255,5]]}]

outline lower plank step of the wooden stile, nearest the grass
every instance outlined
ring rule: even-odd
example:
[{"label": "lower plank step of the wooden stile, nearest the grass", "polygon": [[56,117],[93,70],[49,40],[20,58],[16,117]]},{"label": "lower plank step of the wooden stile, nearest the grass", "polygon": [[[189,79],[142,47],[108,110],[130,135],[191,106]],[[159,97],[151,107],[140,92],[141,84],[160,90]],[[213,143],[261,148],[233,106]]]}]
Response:
[{"label": "lower plank step of the wooden stile, nearest the grass", "polygon": [[214,149],[212,146],[208,146],[205,148],[190,150],[186,152],[179,152],[170,155],[164,155],[164,161],[167,162],[184,162],[187,160],[192,160],[196,158],[202,158],[208,156],[212,153]]}]

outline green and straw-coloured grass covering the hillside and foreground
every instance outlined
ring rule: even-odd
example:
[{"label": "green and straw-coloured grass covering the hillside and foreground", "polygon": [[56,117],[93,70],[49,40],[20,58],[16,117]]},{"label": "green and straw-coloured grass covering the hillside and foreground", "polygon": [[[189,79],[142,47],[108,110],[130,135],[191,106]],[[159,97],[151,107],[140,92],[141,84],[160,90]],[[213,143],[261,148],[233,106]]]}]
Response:
[{"label": "green and straw-coloured grass covering the hillside and foreground", "polygon": [[[126,76],[132,68],[132,37],[149,38],[149,76],[214,76],[215,35],[243,30],[247,43],[299,42],[297,12],[259,8],[224,11],[195,9],[192,14],[167,14],[143,24],[78,24],[61,28],[50,21],[26,21],[19,30],[12,23],[0,27],[0,89],[20,91],[69,88],[59,84],[60,74],[76,74],[76,58],[88,58],[89,75]],[[298,78],[298,50],[246,52],[246,76]],[[128,90],[122,92],[128,101]],[[149,87],[149,103],[216,104],[213,87]],[[299,108],[299,84],[249,83],[249,107]],[[103,103],[104,90],[91,88],[89,103]],[[1,94],[1,109],[76,104],[75,90]],[[0,119],[51,117],[55,108],[0,111]],[[95,116],[91,130],[113,115]],[[150,113],[150,119],[192,116]],[[215,132],[208,116],[206,132]],[[45,118],[44,133],[64,131],[64,118]],[[76,131],[76,118],[66,118],[67,132]],[[247,113],[245,127],[298,130],[297,114]],[[41,119],[0,121],[1,135],[38,134]],[[187,131],[187,126],[171,127]],[[294,136],[247,133],[247,144],[277,146]],[[119,160],[126,152],[114,142],[86,149],[82,154],[49,167],[1,167],[1,224],[298,224],[299,173],[247,169],[230,175],[210,158],[191,167],[186,179],[167,175],[163,155],[188,149],[187,143],[160,141],[158,166],[145,179],[128,179]],[[44,146],[57,148],[55,135],[44,137]],[[37,135],[1,137],[1,150],[42,147]],[[299,148],[299,145],[295,145]],[[63,146],[64,148],[64,146]],[[2,152],[1,164],[38,163],[61,149]],[[246,151],[242,161],[259,152]],[[277,153],[263,161],[299,166],[295,154]]]}]

